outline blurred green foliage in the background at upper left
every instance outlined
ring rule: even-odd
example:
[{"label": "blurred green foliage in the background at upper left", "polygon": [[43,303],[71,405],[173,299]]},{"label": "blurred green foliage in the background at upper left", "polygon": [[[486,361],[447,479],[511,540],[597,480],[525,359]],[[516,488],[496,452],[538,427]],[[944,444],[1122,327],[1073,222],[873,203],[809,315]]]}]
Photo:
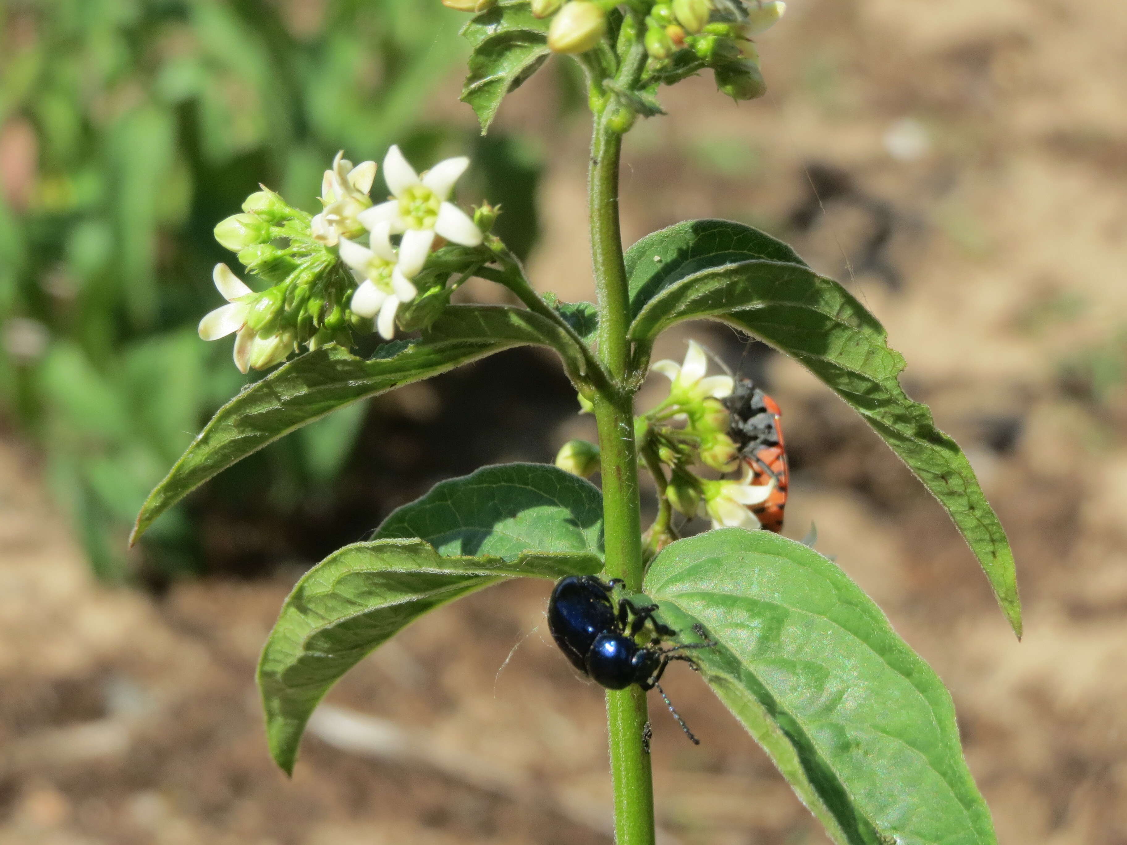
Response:
[{"label": "blurred green foliage in the background at upper left", "polygon": [[[125,536],[243,383],[230,344],[195,326],[221,304],[211,267],[233,258],[212,228],[259,181],[312,210],[338,149],[380,160],[397,142],[425,161],[452,146],[477,154],[473,184],[513,212],[500,233],[531,247],[536,157],[514,139],[471,142],[472,118],[427,117],[464,57],[440,8],[0,0],[0,401],[44,450],[103,578],[199,567],[198,508],[158,523],[139,558]],[[311,426],[218,495],[283,512],[326,496],[363,417]]]}]

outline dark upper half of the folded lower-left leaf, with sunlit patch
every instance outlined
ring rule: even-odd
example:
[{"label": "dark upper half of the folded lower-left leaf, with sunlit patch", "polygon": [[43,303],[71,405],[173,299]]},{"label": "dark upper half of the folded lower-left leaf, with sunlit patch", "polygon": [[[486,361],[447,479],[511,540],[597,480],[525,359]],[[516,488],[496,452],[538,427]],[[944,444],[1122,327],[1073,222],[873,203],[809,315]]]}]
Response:
[{"label": "dark upper half of the folded lower-left leaf, with sunlit patch", "polygon": [[375,533],[388,537],[421,537],[446,555],[513,560],[550,549],[602,557],[603,496],[551,464],[483,466],[393,512]]}]

